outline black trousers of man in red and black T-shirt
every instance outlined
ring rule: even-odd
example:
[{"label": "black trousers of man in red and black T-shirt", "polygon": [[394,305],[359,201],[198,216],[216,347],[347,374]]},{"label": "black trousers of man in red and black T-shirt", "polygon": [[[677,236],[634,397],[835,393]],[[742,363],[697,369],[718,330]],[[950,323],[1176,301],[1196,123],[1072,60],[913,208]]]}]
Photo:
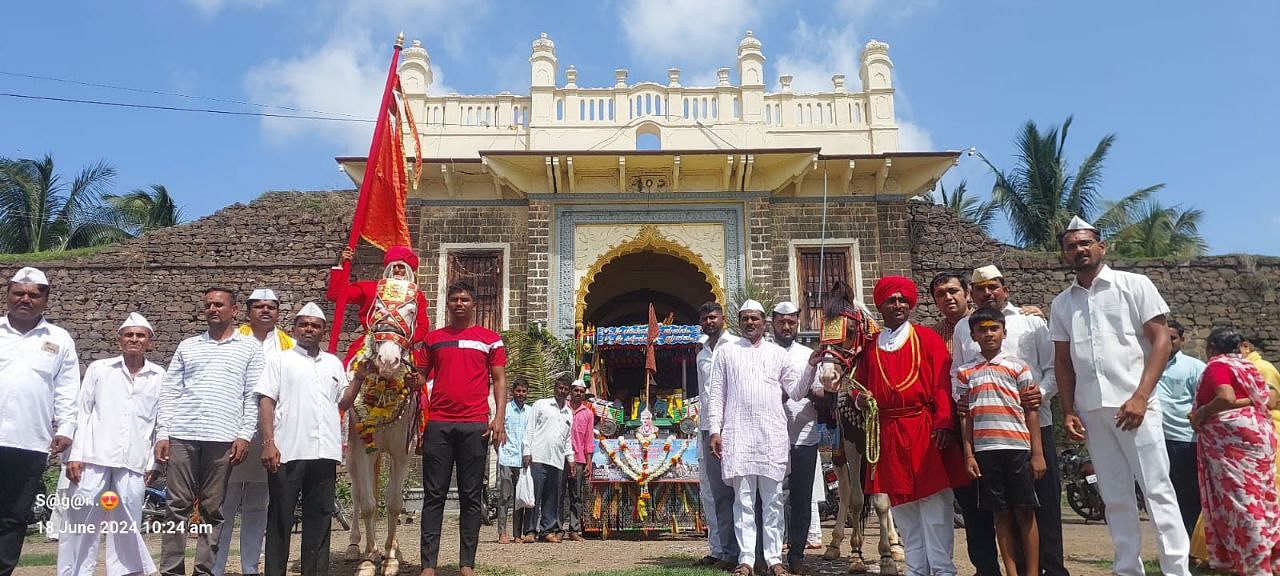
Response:
[{"label": "black trousers of man in red and black T-shirt", "polygon": [[476,566],[480,544],[480,499],[489,440],[486,422],[426,424],[422,440],[422,567],[434,568],[440,556],[440,525],[449,480],[458,471],[458,567]]}]

